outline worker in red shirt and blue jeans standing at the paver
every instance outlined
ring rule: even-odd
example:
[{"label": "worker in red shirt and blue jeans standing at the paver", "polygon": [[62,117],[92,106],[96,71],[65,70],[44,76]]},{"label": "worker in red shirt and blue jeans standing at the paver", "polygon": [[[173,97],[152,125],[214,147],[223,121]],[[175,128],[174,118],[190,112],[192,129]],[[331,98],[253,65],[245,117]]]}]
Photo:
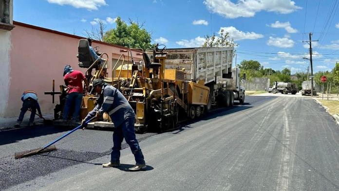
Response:
[{"label": "worker in red shirt and blue jeans standing at the paver", "polygon": [[79,113],[82,103],[82,94],[84,92],[82,81],[84,81],[86,85],[86,91],[88,87],[88,81],[84,74],[78,70],[73,70],[71,65],[66,65],[64,68],[64,81],[68,88],[67,97],[64,106],[64,111],[62,114],[62,119],[67,120],[69,112],[71,110],[72,105],[74,106],[73,112],[73,120],[79,120]]}]

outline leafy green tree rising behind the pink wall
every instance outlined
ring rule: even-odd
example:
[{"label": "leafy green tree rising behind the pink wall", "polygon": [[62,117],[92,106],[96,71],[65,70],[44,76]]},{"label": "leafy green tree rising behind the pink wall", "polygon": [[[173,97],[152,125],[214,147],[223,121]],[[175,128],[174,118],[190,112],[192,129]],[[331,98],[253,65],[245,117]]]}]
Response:
[{"label": "leafy green tree rising behind the pink wall", "polygon": [[103,41],[130,48],[142,48],[144,50],[152,48],[151,32],[143,28],[143,25],[132,22],[126,24],[118,16],[116,18],[116,28],[105,32]]}]

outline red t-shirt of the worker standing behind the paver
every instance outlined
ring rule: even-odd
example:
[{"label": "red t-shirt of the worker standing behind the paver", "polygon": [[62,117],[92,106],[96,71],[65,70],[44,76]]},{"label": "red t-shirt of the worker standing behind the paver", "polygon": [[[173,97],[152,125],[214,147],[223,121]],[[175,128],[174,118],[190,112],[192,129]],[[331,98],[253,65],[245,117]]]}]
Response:
[{"label": "red t-shirt of the worker standing behind the paver", "polygon": [[74,70],[73,72],[66,74],[64,76],[65,83],[68,87],[68,93],[73,92],[83,93],[82,80],[85,79],[85,76],[79,70]]}]

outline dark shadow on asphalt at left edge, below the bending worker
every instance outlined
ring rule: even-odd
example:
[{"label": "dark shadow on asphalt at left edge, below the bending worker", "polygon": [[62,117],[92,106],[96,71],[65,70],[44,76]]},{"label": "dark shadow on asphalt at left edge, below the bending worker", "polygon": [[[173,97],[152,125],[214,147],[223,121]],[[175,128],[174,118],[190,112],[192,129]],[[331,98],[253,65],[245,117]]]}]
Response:
[{"label": "dark shadow on asphalt at left edge, below the bending worker", "polygon": [[52,126],[24,127],[6,131],[0,131],[0,145],[16,143],[20,140],[30,139],[50,135],[54,133],[65,132],[67,129],[55,128]]}]

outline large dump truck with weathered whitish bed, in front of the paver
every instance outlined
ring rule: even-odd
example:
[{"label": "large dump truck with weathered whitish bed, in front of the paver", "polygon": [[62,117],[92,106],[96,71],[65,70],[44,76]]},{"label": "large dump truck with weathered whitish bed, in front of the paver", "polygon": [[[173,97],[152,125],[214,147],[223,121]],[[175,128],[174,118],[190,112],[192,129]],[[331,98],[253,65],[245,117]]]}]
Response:
[{"label": "large dump truck with weathered whitish bed, in front of the paver", "polygon": [[166,70],[184,70],[185,80],[209,88],[207,111],[211,106],[228,107],[237,100],[245,101],[245,88],[240,85],[245,74],[232,68],[234,47],[168,48]]}]

